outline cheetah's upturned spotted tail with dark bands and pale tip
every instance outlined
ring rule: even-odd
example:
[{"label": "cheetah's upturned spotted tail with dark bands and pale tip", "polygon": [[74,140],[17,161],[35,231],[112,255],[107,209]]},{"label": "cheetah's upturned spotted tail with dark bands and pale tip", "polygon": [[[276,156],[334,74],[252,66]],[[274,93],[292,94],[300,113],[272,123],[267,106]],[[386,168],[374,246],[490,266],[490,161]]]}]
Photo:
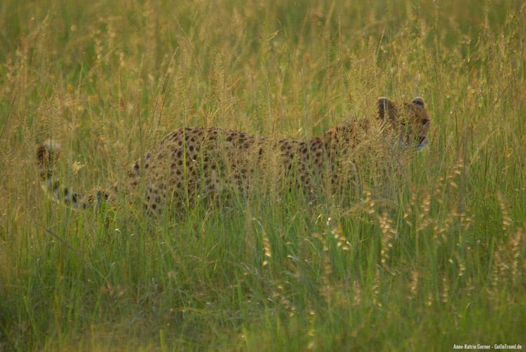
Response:
[{"label": "cheetah's upturned spotted tail with dark bands and pale tip", "polygon": [[[39,165],[40,184],[46,194],[53,201],[63,203],[71,208],[88,208],[90,204],[95,203],[94,196],[86,197],[72,191],[68,187],[60,184],[58,177],[55,177],[54,164],[60,156],[60,144],[53,140],[46,140],[36,147],[36,163]],[[107,194],[97,192],[97,196],[107,198]]]}]

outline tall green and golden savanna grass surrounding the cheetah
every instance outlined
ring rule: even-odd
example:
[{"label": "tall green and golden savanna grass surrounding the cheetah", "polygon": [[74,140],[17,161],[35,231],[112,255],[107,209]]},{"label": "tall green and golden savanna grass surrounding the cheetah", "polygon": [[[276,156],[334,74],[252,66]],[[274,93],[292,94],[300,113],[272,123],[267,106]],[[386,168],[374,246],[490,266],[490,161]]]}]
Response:
[{"label": "tall green and golden savanna grass surrounding the cheetah", "polygon": [[[525,39],[522,1],[1,1],[0,350],[524,346]],[[381,95],[422,95],[430,144],[347,202],[39,188],[49,137],[89,189],[175,128],[309,138]]]}]

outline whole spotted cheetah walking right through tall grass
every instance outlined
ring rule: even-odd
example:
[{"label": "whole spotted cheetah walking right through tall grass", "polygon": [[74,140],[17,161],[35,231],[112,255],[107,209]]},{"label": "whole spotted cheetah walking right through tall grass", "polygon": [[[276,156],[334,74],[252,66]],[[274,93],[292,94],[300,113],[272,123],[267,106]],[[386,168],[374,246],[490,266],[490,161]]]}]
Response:
[{"label": "whole spotted cheetah walking right through tall grass", "polygon": [[[214,127],[180,128],[133,164],[124,193],[141,191],[144,207],[158,216],[170,208],[168,204],[181,208],[191,206],[197,196],[246,191],[257,183],[255,177],[270,174],[274,182],[281,182],[278,188],[295,187],[313,195],[319,187],[349,177],[345,163],[371,135],[380,135],[381,139],[372,139],[376,144],[388,141],[420,150],[428,143],[430,123],[422,97],[403,103],[380,97],[376,121],[355,119],[311,140],[276,140]],[[62,186],[53,173],[59,154],[58,143],[50,140],[36,148],[41,186],[54,201],[78,209],[98,208],[121,193],[119,185],[91,194]]]}]

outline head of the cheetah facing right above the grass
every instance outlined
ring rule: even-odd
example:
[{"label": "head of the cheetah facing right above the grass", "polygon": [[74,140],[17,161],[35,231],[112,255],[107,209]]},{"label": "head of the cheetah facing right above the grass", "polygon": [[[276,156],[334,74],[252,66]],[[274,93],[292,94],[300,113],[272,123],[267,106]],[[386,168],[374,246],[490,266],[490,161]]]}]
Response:
[{"label": "head of the cheetah facing right above the grass", "polygon": [[402,105],[391,102],[386,97],[378,98],[378,116],[389,122],[398,135],[399,147],[412,147],[421,150],[427,145],[427,131],[431,119],[426,111],[422,97],[415,97]]}]

